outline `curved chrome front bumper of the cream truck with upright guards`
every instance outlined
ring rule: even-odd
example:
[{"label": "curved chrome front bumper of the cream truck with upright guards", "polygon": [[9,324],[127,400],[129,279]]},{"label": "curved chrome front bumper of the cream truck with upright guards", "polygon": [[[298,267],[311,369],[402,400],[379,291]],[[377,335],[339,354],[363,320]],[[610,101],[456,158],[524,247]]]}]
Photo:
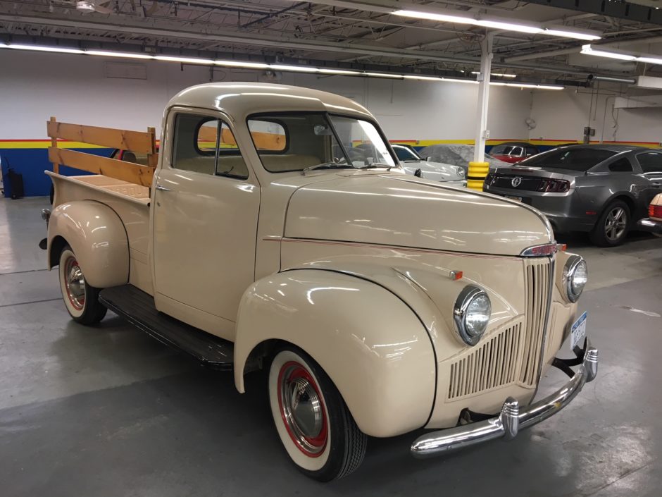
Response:
[{"label": "curved chrome front bumper of the cream truck with upright guards", "polygon": [[[532,427],[566,407],[580,393],[584,384],[593,381],[598,372],[598,350],[586,342],[581,365],[570,381],[548,397],[520,410],[518,401],[506,399],[501,413],[485,421],[464,424],[455,428],[432,431],[420,436],[411,446],[415,458],[425,459],[449,453],[451,450],[473,446],[494,438],[512,440],[522,428]],[[572,369],[572,361],[555,360],[554,365],[566,373]]]}]

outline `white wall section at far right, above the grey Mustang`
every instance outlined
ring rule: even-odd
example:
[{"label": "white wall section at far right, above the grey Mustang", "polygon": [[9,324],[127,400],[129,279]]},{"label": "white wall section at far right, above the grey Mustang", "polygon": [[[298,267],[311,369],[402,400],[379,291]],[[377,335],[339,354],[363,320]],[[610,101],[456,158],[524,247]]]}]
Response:
[{"label": "white wall section at far right, above the grey Mustang", "polygon": [[613,109],[624,87],[582,88],[576,92],[535,92],[531,140],[582,140],[585,126],[595,129],[592,141],[662,142],[662,109]]}]

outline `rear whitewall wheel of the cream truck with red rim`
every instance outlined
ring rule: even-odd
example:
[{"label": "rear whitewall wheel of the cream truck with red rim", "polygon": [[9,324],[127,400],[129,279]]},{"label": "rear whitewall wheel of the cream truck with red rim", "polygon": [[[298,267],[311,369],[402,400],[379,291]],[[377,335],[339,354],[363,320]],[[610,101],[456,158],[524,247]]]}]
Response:
[{"label": "rear whitewall wheel of the cream truck with red rim", "polygon": [[74,321],[89,325],[104,319],[108,309],[99,302],[100,289],[87,284],[69,245],[60,253],[59,275],[62,299]]}]

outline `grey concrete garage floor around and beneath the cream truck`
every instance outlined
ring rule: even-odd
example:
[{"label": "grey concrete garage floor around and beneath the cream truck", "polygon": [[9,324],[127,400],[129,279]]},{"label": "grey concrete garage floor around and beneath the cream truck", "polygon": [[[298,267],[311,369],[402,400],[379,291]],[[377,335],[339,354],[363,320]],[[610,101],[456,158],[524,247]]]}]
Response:
[{"label": "grey concrete garage floor around and beneath the cream truck", "polygon": [[[515,441],[448,458],[408,455],[415,434],[371,438],[363,466],[318,484],[289,462],[260,376],[248,393],[109,313],[70,321],[44,271],[44,198],[0,200],[0,495],[655,496],[662,491],[662,240],[566,240],[587,258],[580,307],[599,376]],[[547,393],[565,380],[556,371]]]}]

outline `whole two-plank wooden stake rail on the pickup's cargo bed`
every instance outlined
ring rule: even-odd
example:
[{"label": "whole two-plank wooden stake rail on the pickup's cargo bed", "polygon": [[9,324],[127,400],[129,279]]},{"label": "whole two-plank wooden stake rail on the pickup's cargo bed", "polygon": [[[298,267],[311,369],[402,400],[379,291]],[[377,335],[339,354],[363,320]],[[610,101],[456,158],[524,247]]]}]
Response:
[{"label": "whole two-plank wooden stake rail on the pickup's cargo bed", "polygon": [[[89,173],[102,174],[109,178],[127,181],[146,187],[151,186],[158,154],[156,152],[156,133],[148,128],[147,133],[139,131],[99,128],[80,124],[58,123],[51,117],[47,122],[48,135],[51,137],[49,161],[53,171],[58,173],[59,165],[81,169]],[[57,140],[70,140],[92,145],[101,145],[113,149],[128,150],[138,154],[147,154],[148,166],[133,162],[109,159],[85,152],[58,148]]]}]

